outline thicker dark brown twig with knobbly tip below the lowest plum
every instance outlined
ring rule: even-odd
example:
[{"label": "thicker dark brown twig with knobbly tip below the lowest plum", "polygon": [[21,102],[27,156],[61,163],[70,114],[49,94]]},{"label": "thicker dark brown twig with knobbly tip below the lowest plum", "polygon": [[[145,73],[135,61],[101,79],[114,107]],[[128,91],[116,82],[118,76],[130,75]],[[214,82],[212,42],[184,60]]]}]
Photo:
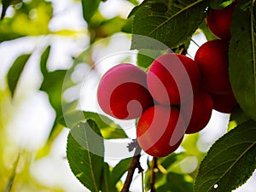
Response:
[{"label": "thicker dark brown twig with knobbly tip below the lowest plum", "polygon": [[127,177],[125,178],[125,183],[123,186],[123,189],[121,190],[121,192],[128,192],[129,188],[131,186],[131,181],[132,181],[132,177],[134,175],[134,172],[136,170],[136,168],[138,169],[138,173],[143,172],[143,167],[140,164],[140,157],[141,157],[141,151],[142,148],[139,147],[139,145],[137,144],[137,140],[133,140],[133,143],[130,143],[128,145],[129,151],[132,151],[134,148],[135,152],[134,152],[134,156],[131,160],[131,165],[130,168],[128,170],[128,174]]}]

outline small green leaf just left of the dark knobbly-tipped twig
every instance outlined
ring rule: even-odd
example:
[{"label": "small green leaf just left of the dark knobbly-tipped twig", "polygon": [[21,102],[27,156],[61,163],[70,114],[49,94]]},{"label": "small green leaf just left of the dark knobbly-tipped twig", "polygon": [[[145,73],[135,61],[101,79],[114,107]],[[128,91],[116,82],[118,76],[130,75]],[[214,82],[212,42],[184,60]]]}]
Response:
[{"label": "small green leaf just left of the dark knobbly-tipped twig", "polygon": [[128,171],[131,165],[131,158],[120,160],[119,163],[113,167],[111,172],[111,182],[113,185],[119,182],[121,177]]}]

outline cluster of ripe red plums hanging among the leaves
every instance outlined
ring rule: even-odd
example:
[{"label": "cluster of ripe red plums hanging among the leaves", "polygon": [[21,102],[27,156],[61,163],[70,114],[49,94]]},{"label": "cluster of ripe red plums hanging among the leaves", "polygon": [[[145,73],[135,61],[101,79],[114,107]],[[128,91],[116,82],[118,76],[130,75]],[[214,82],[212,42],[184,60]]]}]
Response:
[{"label": "cluster of ripe red plums hanging among the leaves", "polygon": [[212,109],[230,113],[236,107],[228,74],[230,28],[219,32],[221,26],[214,26],[218,16],[212,11],[207,24],[221,39],[201,45],[195,60],[166,53],[152,62],[147,73],[121,63],[102,76],[97,90],[100,107],[117,119],[139,118],[137,142],[147,154],[171,154],[184,134],[207,125]]}]

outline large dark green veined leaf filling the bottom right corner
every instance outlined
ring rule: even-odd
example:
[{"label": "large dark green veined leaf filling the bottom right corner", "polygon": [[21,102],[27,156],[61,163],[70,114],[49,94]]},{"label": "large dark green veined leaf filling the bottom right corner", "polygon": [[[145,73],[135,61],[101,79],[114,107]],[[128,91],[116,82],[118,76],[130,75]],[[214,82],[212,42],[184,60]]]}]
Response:
[{"label": "large dark green veined leaf filling the bottom right corner", "polygon": [[218,139],[201,162],[195,192],[230,192],[256,168],[256,123],[247,121]]}]

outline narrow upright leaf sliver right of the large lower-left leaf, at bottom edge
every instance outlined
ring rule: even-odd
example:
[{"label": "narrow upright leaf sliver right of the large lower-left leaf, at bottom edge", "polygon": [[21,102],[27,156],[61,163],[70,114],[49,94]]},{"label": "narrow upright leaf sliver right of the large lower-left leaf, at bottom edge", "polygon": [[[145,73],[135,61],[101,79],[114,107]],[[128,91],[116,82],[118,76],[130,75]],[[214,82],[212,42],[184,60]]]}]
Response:
[{"label": "narrow upright leaf sliver right of the large lower-left leaf, at bottom edge", "polygon": [[111,175],[109,171],[108,163],[104,163],[103,169],[103,179],[102,179],[102,192],[114,192],[117,191],[115,184],[111,182]]}]

